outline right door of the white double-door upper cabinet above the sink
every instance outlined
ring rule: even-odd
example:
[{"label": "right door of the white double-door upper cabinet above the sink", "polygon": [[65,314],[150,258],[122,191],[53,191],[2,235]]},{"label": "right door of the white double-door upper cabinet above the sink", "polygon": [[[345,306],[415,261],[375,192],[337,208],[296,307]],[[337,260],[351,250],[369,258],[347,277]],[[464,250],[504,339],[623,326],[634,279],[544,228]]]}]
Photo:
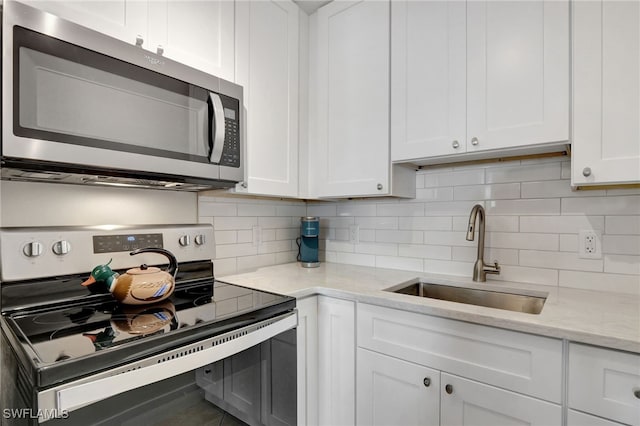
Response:
[{"label": "right door of the white double-door upper cabinet above the sink", "polygon": [[467,151],[568,141],[568,1],[469,1],[467,52]]}]

